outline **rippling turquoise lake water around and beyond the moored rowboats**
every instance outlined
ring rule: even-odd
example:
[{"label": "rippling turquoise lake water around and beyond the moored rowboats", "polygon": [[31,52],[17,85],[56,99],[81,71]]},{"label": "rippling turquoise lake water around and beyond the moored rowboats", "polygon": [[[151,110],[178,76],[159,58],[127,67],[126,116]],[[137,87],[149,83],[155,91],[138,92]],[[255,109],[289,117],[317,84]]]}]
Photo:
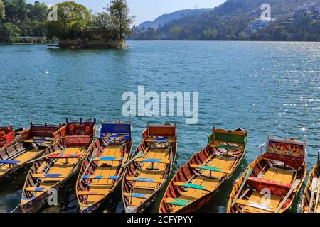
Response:
[{"label": "rippling turquoise lake water around and beyond the moored rowboats", "polygon": [[[320,43],[132,41],[126,50],[56,50],[46,45],[0,46],[0,124],[58,123],[69,118],[132,121],[134,146],[146,123],[177,123],[178,160],[183,165],[206,146],[217,128],[246,128],[245,159],[201,211],[224,212],[245,167],[259,155],[257,146],[274,137],[306,139],[308,170],[320,150]],[[49,72],[46,74],[45,72]],[[199,92],[199,121],[185,118],[124,118],[122,93]],[[0,212],[14,209],[26,171],[0,184]],[[59,204],[43,212],[77,209],[74,179],[59,194]],[[304,187],[303,187],[304,189]],[[101,211],[115,211],[119,189]],[[293,212],[299,211],[302,196]],[[158,210],[159,199],[149,211]]]}]

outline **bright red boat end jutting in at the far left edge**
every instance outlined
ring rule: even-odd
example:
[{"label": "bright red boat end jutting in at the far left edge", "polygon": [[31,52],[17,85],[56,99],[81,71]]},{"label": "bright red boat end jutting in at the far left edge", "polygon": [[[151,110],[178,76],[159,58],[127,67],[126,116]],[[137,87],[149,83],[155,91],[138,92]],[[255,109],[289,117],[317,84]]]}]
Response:
[{"label": "bright red boat end jutting in at the far left edge", "polygon": [[18,140],[21,139],[23,130],[23,128],[14,130],[14,126],[0,127],[0,148],[6,148],[18,143]]}]

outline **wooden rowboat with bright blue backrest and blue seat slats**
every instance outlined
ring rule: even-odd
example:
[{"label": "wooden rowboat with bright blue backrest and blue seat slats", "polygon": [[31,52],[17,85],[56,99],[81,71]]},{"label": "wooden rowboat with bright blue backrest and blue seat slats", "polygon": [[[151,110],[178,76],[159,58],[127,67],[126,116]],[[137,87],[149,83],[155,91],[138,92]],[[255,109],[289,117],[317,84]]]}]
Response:
[{"label": "wooden rowboat with bright blue backrest and blue seat slats", "polygon": [[80,212],[95,211],[122,181],[132,148],[129,123],[102,123],[77,179]]}]

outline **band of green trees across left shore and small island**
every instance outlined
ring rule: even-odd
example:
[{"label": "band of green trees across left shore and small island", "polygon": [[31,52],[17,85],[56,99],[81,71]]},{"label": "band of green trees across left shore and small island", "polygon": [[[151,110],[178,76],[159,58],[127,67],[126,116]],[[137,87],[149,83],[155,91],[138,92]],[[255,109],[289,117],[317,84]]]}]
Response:
[{"label": "band of green trees across left shore and small island", "polygon": [[0,43],[43,43],[44,40],[124,40],[132,30],[125,0],[112,0],[103,12],[92,13],[73,1],[56,4],[57,20],[48,20],[52,7],[36,1],[0,0]]}]

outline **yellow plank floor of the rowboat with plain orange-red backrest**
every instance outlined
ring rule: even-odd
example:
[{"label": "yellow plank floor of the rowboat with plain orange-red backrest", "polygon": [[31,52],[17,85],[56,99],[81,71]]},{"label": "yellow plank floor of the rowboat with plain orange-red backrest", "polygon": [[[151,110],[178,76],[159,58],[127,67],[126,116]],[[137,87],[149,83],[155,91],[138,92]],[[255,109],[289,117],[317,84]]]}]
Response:
[{"label": "yellow plank floor of the rowboat with plain orange-red backrest", "polygon": [[[149,148],[146,151],[144,159],[159,159],[159,160],[170,160],[170,148]],[[153,167],[151,169],[151,167]],[[136,170],[134,177],[139,178],[151,178],[156,182],[161,182],[164,180],[164,175],[166,175],[167,164],[164,163],[149,163],[142,162],[141,170]],[[146,198],[149,198],[156,189],[159,187],[160,183],[153,182],[133,182],[134,187],[132,189],[132,194],[145,194]],[[130,206],[139,206],[145,199],[131,197]]]}]

